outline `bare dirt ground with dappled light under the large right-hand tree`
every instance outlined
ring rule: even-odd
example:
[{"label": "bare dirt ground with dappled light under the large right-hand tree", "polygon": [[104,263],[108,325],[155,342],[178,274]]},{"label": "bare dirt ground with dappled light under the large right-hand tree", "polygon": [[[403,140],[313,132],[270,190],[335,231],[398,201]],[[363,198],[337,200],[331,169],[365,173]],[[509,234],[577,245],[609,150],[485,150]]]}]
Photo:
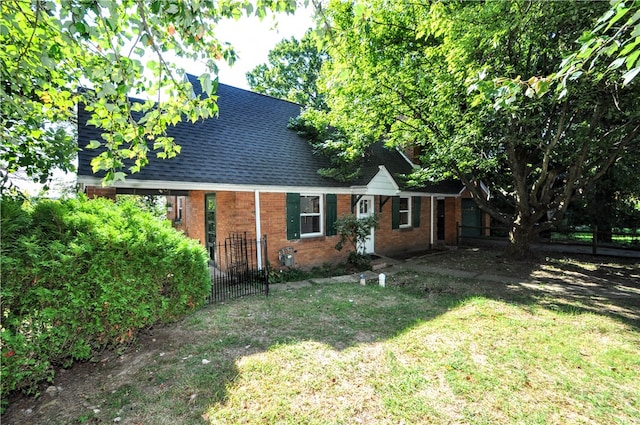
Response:
[{"label": "bare dirt ground with dappled light under the large right-hand tree", "polygon": [[513,261],[499,250],[461,248],[412,258],[404,266],[473,279],[481,291],[498,297],[533,297],[540,304],[609,314],[640,326],[637,258],[547,253]]}]

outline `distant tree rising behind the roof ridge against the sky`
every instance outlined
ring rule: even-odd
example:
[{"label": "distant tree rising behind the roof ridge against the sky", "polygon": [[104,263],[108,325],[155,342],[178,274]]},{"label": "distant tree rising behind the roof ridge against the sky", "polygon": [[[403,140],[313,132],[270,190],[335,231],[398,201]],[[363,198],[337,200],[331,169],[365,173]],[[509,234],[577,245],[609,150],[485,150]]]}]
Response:
[{"label": "distant tree rising behind the roof ridge against the sky", "polygon": [[291,37],[279,42],[269,52],[269,63],[248,72],[247,81],[258,93],[324,110],[324,95],[318,91],[316,81],[327,59],[312,30],[308,30],[300,41]]}]

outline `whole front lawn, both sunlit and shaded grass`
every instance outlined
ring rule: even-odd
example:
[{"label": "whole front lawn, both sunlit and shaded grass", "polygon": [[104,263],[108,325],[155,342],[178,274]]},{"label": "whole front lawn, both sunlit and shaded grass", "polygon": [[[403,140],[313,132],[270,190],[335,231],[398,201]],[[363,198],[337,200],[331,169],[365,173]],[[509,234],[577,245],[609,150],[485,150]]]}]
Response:
[{"label": "whole front lawn, both sunlit and shaded grass", "polygon": [[640,423],[637,323],[475,281],[387,282],[207,307],[73,422]]}]

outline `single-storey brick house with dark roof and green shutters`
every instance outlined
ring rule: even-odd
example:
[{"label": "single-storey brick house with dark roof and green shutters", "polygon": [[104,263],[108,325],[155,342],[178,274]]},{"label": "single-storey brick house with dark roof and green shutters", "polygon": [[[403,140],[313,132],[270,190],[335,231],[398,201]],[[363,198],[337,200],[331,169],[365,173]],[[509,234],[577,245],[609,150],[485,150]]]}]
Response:
[{"label": "single-storey brick house with dark roof and green shutters", "polygon": [[[198,80],[190,78],[197,90]],[[168,129],[182,146],[177,157],[150,155],[139,173],[102,187],[100,175],[91,171],[96,151],[82,149],[78,183],[90,197],[167,196],[168,218],[209,249],[230,234],[266,234],[271,264],[278,263],[284,248],[295,252],[301,267],[344,261],[347,253],[334,248],[333,224],[351,212],[380,213],[379,228],[367,242],[369,253],[394,255],[456,243],[463,206],[470,205],[459,182],[408,189],[399,176],[412,171],[411,161],[382,144],[372,147],[356,181],[323,177],[318,170],[330,165],[327,159],[314,155],[287,126],[300,114],[299,105],[223,84],[217,96],[219,117]],[[100,130],[86,124],[88,118],[80,107],[81,148],[100,138]]]}]

